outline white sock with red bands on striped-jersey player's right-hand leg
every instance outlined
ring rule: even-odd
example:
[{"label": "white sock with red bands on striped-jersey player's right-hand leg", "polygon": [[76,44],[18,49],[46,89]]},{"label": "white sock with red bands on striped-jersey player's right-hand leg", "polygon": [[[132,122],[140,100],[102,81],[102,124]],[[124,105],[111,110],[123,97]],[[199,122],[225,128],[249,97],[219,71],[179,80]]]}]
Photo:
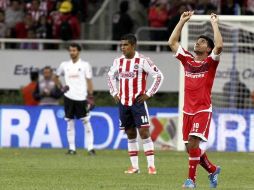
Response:
[{"label": "white sock with red bands on striped-jersey player's right-hand leg", "polygon": [[154,145],[151,137],[147,139],[143,139],[143,147],[144,152],[147,159],[147,166],[148,167],[155,167],[154,166]]}]

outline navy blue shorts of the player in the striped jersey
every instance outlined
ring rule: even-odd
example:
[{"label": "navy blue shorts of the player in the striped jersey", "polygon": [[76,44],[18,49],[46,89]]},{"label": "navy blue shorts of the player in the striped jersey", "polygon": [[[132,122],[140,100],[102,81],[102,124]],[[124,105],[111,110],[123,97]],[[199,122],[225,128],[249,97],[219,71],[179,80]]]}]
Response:
[{"label": "navy blue shorts of the player in the striped jersey", "polygon": [[149,127],[149,114],[146,103],[124,106],[119,103],[120,129]]}]

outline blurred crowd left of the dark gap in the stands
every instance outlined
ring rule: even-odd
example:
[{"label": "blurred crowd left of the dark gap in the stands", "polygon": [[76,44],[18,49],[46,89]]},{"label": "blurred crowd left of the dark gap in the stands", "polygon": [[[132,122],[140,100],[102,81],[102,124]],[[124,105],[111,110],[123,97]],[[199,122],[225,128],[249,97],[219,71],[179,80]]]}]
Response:
[{"label": "blurred crowd left of the dark gap in the stands", "polygon": [[[80,39],[81,22],[89,17],[88,5],[95,6],[100,2],[100,0],[0,0],[0,37]],[[20,44],[20,48],[38,47],[35,43],[25,43]]]}]

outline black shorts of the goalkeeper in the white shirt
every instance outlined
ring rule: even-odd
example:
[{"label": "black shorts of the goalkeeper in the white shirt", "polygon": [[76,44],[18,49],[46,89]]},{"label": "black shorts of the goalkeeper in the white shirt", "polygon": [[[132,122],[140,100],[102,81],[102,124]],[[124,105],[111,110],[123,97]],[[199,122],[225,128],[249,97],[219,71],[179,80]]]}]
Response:
[{"label": "black shorts of the goalkeeper in the white shirt", "polygon": [[71,100],[64,96],[64,112],[65,118],[68,119],[80,119],[86,117],[88,114],[87,101]]}]

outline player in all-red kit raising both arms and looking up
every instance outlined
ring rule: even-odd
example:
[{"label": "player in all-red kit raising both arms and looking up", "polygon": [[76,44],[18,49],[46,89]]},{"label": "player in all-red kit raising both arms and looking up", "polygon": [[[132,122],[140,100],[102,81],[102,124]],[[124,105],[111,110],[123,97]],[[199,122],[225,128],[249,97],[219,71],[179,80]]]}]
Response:
[{"label": "player in all-red kit raising both arms and looking up", "polygon": [[183,141],[189,154],[188,179],[184,188],[195,188],[196,168],[200,164],[208,173],[210,187],[217,187],[217,177],[221,168],[212,164],[205,153],[212,117],[211,90],[223,41],[218,27],[218,16],[211,14],[210,22],[214,32],[214,42],[208,36],[201,35],[194,45],[193,56],[179,44],[184,24],[194,12],[186,11],[172,32],[168,43],[184,67],[184,108],[183,108]]}]

